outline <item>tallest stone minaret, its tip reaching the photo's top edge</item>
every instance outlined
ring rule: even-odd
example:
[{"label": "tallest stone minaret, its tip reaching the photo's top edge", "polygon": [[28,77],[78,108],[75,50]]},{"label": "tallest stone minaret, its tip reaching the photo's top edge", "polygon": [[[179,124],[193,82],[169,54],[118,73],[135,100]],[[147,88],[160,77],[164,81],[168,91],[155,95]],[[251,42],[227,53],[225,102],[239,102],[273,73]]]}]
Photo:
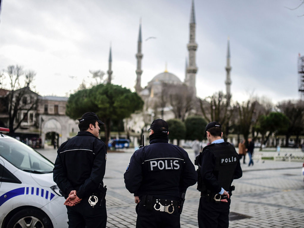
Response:
[{"label": "tallest stone minaret, its tip reaching the photo's top edge", "polygon": [[189,66],[187,67],[187,77],[185,79],[185,83],[186,85],[191,87],[191,89],[193,90],[193,95],[196,96],[195,77],[196,77],[197,67],[195,63],[195,51],[197,49],[197,43],[195,43],[194,0],[192,0],[192,9],[190,16],[190,38],[187,47],[189,51]]}]

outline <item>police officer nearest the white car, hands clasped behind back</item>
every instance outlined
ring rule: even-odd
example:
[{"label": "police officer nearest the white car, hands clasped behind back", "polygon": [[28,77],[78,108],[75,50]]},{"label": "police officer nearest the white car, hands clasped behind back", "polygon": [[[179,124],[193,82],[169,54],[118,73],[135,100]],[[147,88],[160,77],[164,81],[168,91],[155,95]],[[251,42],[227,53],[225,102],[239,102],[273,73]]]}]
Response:
[{"label": "police officer nearest the white car, hands clasped behind back", "polygon": [[94,112],[83,114],[77,136],[57,150],[53,178],[64,193],[69,228],[105,228],[107,212],[103,177],[106,145],[98,139],[103,124]]}]

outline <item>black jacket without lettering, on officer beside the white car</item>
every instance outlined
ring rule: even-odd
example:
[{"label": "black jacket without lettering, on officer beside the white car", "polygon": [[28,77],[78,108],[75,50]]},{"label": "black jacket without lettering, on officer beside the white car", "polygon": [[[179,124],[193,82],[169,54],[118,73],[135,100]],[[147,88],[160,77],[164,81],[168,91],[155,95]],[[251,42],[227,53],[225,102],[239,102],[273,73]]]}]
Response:
[{"label": "black jacket without lettering, on officer beside the white car", "polygon": [[105,175],[106,145],[88,131],[62,143],[57,150],[53,178],[67,197],[76,190],[79,198],[98,192]]}]

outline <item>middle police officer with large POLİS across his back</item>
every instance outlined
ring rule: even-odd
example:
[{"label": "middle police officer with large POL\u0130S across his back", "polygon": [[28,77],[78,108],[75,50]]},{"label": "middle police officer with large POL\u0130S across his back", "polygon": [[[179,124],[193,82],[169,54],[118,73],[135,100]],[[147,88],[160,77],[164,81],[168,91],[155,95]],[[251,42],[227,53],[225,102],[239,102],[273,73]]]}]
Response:
[{"label": "middle police officer with large POL\u0130S across his back", "polygon": [[154,120],[149,130],[150,145],[134,152],[124,174],[137,203],[136,228],[180,227],[182,199],[197,173],[187,152],[168,143],[166,121]]}]

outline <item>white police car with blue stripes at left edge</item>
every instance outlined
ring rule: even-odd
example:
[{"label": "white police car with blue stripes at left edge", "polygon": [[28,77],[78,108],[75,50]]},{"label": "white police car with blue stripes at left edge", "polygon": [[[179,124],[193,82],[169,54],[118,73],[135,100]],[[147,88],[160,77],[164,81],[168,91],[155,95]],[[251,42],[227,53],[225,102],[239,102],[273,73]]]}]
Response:
[{"label": "white police car with blue stripes at left edge", "polygon": [[54,164],[0,128],[0,227],[67,227]]}]

